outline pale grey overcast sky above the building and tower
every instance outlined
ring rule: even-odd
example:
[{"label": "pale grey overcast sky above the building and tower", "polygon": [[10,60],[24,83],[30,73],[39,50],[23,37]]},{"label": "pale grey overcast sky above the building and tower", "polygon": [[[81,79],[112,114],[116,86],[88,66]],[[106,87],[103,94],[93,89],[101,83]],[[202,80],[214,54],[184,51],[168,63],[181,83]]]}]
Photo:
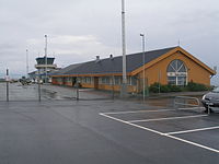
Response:
[{"label": "pale grey overcast sky above the building and tower", "polygon": [[[219,68],[218,0],[125,0],[127,54],[181,46]],[[0,0],[0,73],[25,74],[48,54],[58,67],[122,55],[120,0]]]}]

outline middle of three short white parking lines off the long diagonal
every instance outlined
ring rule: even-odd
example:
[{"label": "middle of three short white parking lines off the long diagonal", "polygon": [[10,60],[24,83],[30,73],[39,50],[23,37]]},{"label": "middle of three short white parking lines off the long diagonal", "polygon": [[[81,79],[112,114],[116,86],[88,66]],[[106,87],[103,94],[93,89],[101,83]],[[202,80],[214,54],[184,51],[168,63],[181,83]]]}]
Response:
[{"label": "middle of three short white parking lines off the long diagonal", "polygon": [[206,117],[208,115],[193,115],[193,116],[182,116],[182,117],[164,117],[164,118],[154,118],[154,119],[139,119],[139,120],[128,120],[128,122],[145,122],[145,121],[159,121],[159,120],[171,120],[171,119],[186,119],[195,117]]}]

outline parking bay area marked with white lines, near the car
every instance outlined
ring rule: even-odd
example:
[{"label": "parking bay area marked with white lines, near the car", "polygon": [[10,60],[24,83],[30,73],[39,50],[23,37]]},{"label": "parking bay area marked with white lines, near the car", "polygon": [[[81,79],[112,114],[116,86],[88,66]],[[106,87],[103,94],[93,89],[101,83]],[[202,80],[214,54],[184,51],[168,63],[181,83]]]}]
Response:
[{"label": "parking bay area marked with white lines, near the car", "polygon": [[[219,153],[219,121],[217,116],[194,114],[184,109],[147,109],[100,113],[101,116],[154,132],[173,140]],[[200,110],[201,112],[201,110]],[[212,137],[210,137],[211,134]]]}]

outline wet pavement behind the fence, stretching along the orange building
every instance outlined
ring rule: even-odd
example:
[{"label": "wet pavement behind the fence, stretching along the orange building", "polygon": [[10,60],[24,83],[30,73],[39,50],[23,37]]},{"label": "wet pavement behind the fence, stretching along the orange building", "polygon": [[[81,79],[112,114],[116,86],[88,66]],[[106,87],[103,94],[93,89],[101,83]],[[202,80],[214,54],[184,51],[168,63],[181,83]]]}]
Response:
[{"label": "wet pavement behind the fence, stretching along the orange building", "polygon": [[[41,99],[42,101],[65,101],[76,99],[77,90],[69,86],[58,86],[50,84],[41,85]],[[7,85],[0,83],[0,102],[7,101]],[[201,98],[203,92],[200,93],[168,93],[151,95],[146,98],[146,104],[159,107],[173,107],[174,96],[176,95],[192,95]],[[38,101],[39,92],[37,84],[21,85],[21,83],[9,84],[9,99],[10,101]],[[93,89],[79,89],[80,101],[102,101],[102,99],[119,99],[119,93],[106,91],[95,91]],[[142,103],[142,96],[129,95],[127,101]]]}]

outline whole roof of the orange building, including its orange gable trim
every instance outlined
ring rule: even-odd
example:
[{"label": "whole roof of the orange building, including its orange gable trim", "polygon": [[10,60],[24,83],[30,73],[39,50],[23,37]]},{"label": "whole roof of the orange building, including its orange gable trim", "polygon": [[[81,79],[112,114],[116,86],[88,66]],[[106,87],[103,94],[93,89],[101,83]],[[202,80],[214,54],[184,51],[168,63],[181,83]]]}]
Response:
[{"label": "whole roof of the orange building, including its orange gable trim", "polygon": [[[210,69],[208,66],[199,61],[197,58],[185,51],[181,47],[170,47],[164,49],[151,50],[145,52],[145,63],[143,54],[131,54],[126,56],[126,67],[127,73],[135,75],[138,72],[142,71],[142,69],[151,67],[152,65],[163,60],[164,58],[173,55],[176,51],[181,51],[183,55],[187,56],[192,60],[194,60],[197,65],[205,68],[211,74],[216,72]],[[123,56],[114,57],[114,58],[105,58],[101,60],[93,60],[83,63],[71,65],[58,71],[55,77],[61,75],[92,75],[92,74],[120,74],[123,72]]]}]

